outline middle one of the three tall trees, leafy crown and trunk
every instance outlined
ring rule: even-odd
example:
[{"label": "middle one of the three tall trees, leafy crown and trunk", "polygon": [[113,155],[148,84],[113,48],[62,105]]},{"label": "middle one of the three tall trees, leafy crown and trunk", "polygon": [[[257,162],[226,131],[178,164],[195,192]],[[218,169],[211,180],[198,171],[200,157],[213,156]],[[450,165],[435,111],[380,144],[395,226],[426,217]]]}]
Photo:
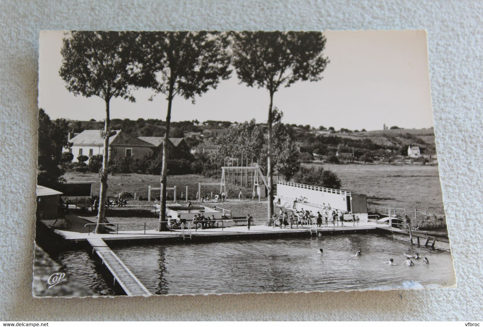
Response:
[{"label": "middle one of the three tall trees, leafy crown and trunk", "polygon": [[[143,32],[139,62],[145,74],[140,86],[152,88],[168,101],[161,168],[161,210],[158,230],[166,230],[166,173],[171,107],[178,95],[195,102],[221,80],[230,77],[227,38],[218,32]],[[148,82],[146,82],[148,81]],[[151,97],[152,99],[152,97]]]}]

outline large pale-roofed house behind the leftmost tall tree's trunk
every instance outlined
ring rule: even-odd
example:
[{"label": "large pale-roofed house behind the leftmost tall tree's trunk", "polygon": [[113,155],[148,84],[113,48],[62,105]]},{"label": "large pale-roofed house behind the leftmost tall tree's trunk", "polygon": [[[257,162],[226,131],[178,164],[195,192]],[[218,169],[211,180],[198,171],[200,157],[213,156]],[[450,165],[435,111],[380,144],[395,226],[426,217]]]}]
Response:
[{"label": "large pale-roofed house behind the leftmost tall tree's trunk", "polygon": [[[72,161],[77,161],[77,156],[91,156],[104,153],[104,140],[100,136],[100,130],[85,130],[75,136],[69,133],[69,142],[72,143],[70,149],[64,152],[71,152],[74,155]],[[109,137],[109,156],[120,159],[128,157],[142,158],[151,153],[156,147],[138,137],[129,135],[121,130],[112,131]],[[88,160],[87,162],[88,163]]]}]

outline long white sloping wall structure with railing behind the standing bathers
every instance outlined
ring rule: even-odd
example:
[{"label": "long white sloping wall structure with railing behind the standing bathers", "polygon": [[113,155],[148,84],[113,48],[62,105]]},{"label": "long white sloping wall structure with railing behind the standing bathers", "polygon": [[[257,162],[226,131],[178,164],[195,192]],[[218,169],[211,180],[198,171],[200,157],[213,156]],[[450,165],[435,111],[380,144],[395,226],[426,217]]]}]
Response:
[{"label": "long white sloping wall structure with railing behind the standing bathers", "polygon": [[280,199],[280,204],[292,207],[294,200],[300,197],[303,197],[305,202],[297,203],[298,210],[304,208],[304,210],[316,213],[322,211],[323,205],[326,204],[330,205],[331,210],[355,213],[360,221],[368,220],[366,194],[277,181],[276,199]]}]

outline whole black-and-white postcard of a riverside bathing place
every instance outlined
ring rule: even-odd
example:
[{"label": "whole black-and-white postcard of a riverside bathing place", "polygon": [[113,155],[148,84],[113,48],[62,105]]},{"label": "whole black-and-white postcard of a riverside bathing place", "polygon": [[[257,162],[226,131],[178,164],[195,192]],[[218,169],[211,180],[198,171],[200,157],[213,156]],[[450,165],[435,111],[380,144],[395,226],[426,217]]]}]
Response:
[{"label": "whole black-and-white postcard of a riverside bathing place", "polygon": [[456,286],[426,31],[43,30],[38,68],[34,297]]}]

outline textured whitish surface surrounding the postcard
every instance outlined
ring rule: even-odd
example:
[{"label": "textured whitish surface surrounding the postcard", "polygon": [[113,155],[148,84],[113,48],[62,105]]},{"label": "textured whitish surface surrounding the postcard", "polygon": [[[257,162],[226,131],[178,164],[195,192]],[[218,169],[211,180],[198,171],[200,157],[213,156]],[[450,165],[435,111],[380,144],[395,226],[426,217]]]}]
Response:
[{"label": "textured whitish surface surrounding the postcard", "polygon": [[[482,1],[0,1],[0,320],[481,320],[482,16]],[[39,30],[392,28],[428,31],[457,288],[32,299]]]}]

